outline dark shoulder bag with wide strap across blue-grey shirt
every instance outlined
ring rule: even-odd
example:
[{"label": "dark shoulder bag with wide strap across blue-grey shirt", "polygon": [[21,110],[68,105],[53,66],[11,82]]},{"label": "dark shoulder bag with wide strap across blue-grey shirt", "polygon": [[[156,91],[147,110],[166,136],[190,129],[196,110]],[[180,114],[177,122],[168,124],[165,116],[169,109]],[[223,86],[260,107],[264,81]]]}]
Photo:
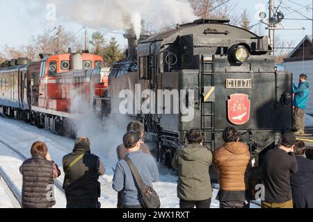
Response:
[{"label": "dark shoulder bag with wide strap across blue-grey shirt", "polygon": [[139,194],[141,194],[143,208],[160,208],[161,202],[157,192],[152,187],[145,185],[145,183],[143,182],[143,178],[141,178],[138,170],[134,166],[134,163],[128,156],[125,157],[123,160],[127,162],[129,168],[131,169],[131,173],[136,180]]}]

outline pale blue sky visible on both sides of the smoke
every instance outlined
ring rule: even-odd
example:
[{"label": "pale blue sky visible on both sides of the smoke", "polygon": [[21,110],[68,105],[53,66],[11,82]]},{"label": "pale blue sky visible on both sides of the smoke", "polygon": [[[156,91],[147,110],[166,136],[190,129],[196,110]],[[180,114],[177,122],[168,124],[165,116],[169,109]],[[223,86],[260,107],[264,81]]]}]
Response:
[{"label": "pale blue sky visible on both sides of the smoke", "polygon": [[[63,28],[66,28],[66,30],[71,31],[72,33],[77,33],[77,31],[81,29],[81,24],[67,22],[64,19],[56,19],[55,22],[47,21],[47,8],[42,6],[40,8],[35,8],[36,1],[40,0],[0,1],[0,50],[1,47],[3,47],[3,45],[5,44],[14,47],[28,44],[31,40],[31,35],[38,35],[42,33],[45,29],[52,30],[55,26],[58,26],[58,24],[61,24]],[[295,3],[292,3],[291,1],[294,1]],[[291,1],[282,0],[282,6],[285,8],[281,7],[280,10],[284,12],[285,18],[300,19],[304,18],[303,15],[312,18],[312,0]],[[247,8],[252,19],[251,24],[256,24],[257,22],[259,22],[256,15],[259,14],[259,11],[262,10],[262,8],[264,8],[264,10],[266,10],[266,13],[268,14],[268,0],[230,0],[230,3],[232,3],[232,5],[234,6],[235,13],[239,13],[243,10],[243,8]],[[275,6],[278,6],[279,3],[280,0],[275,0]],[[297,5],[296,3],[303,6],[310,5],[310,8],[304,8],[303,6]],[[302,13],[303,15],[300,15],[299,13]],[[298,42],[303,38],[304,35],[312,35],[312,21],[310,20],[284,20],[284,22],[282,22],[282,25],[284,26],[284,28],[305,28],[304,31],[277,31],[278,35],[280,35],[284,39],[296,40],[296,44],[298,44]],[[265,28],[265,26],[263,26],[263,28]],[[90,33],[92,33],[93,31],[95,30],[89,30]],[[115,32],[122,33],[122,31]],[[111,36],[117,37],[121,46],[125,46],[127,44],[127,42],[120,34],[106,33],[106,31],[103,31],[103,33],[106,35],[107,38]],[[77,37],[81,38],[81,41],[83,42],[83,31],[78,33]]]}]

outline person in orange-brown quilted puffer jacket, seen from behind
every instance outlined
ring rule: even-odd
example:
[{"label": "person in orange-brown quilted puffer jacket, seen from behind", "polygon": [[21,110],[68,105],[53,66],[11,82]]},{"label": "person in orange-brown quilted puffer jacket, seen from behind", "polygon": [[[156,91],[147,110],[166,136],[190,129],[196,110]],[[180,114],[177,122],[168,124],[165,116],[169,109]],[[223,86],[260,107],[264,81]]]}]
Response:
[{"label": "person in orange-brown quilted puffer jacket, seen from behind", "polygon": [[233,127],[223,131],[225,144],[214,151],[214,166],[218,172],[220,208],[249,208],[247,169],[250,151],[239,142],[239,132]]}]

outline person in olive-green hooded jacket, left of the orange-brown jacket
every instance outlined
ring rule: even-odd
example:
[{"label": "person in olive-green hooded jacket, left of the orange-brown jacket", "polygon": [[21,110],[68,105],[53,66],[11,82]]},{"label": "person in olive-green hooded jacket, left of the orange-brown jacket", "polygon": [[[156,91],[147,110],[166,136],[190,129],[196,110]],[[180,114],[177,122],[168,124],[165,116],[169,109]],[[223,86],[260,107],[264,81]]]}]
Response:
[{"label": "person in olive-green hooded jacket, left of the orange-brown jacket", "polygon": [[186,133],[186,146],[178,148],[172,167],[178,169],[177,196],[180,208],[210,208],[212,187],[209,167],[212,153],[205,146],[201,130]]}]

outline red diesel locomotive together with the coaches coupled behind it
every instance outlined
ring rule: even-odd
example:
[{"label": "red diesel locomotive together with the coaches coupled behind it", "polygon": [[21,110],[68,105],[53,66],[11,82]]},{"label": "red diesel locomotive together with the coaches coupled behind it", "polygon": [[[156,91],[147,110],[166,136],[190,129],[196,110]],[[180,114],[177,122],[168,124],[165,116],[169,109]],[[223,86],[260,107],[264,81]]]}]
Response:
[{"label": "red diesel locomotive together with the coaches coupled behind it", "polygon": [[40,58],[40,62],[19,58],[0,65],[0,113],[61,135],[72,133],[70,120],[106,94],[109,70],[101,56],[89,53]]}]

